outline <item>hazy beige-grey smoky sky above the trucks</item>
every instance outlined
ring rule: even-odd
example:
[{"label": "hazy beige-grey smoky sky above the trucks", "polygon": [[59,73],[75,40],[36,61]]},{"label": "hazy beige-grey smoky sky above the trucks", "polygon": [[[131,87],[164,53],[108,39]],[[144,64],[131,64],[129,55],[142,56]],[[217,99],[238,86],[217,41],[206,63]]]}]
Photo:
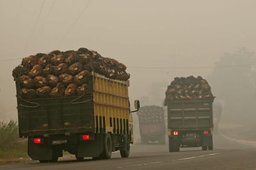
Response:
[{"label": "hazy beige-grey smoky sky above the trucks", "polygon": [[[255,0],[91,0],[85,8],[88,2],[0,0],[0,60],[94,49],[128,66],[134,100],[149,95],[152,82],[212,70],[129,67],[213,66],[224,52],[256,51]],[[0,119],[17,118],[11,72],[20,62],[0,62]]]}]

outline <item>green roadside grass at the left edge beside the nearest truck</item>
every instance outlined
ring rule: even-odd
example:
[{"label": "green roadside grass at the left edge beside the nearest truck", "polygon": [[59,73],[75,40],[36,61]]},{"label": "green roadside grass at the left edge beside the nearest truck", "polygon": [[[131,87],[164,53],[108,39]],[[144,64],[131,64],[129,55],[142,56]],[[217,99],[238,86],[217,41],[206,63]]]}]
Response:
[{"label": "green roadside grass at the left edge beside the nearest truck", "polygon": [[26,158],[27,140],[19,138],[17,122],[0,122],[0,163]]}]

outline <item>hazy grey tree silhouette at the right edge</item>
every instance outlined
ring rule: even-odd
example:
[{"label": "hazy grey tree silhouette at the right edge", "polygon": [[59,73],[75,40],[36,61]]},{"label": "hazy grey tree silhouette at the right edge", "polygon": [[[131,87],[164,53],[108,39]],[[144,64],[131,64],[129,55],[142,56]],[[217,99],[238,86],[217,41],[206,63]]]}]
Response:
[{"label": "hazy grey tree silhouette at the right edge", "polygon": [[[239,48],[233,54],[225,53],[217,67],[207,78],[213,94],[225,101],[223,119],[233,122],[255,122],[256,120],[256,59],[254,52]],[[240,65],[240,66],[238,66]],[[245,65],[245,66],[241,66]]]}]

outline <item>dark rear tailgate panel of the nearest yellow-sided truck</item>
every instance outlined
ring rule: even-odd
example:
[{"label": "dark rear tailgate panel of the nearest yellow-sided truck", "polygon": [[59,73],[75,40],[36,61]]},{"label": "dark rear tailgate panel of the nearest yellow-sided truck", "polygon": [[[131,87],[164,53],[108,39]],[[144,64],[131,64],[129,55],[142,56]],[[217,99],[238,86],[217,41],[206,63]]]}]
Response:
[{"label": "dark rear tailgate panel of the nearest yellow-sided truck", "polygon": [[20,136],[93,132],[93,96],[18,99]]}]

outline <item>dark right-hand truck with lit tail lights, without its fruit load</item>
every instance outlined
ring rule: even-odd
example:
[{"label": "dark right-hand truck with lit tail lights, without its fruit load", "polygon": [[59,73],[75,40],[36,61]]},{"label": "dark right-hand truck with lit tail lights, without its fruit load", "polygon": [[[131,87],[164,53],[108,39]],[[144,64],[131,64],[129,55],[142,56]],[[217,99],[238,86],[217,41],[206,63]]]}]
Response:
[{"label": "dark right-hand truck with lit tail lights, without its fruit load", "polygon": [[167,100],[169,152],[180,147],[213,149],[213,100]]}]

